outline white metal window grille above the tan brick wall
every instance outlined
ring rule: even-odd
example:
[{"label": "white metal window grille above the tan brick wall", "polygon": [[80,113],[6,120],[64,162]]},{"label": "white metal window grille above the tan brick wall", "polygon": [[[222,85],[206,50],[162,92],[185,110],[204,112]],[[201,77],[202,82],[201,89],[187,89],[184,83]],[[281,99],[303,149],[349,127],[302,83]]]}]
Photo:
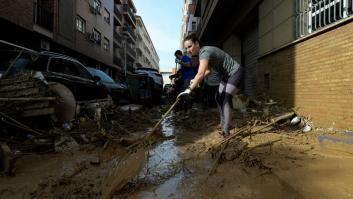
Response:
[{"label": "white metal window grille above the tan brick wall", "polygon": [[300,38],[353,13],[353,0],[296,0],[296,37]]}]

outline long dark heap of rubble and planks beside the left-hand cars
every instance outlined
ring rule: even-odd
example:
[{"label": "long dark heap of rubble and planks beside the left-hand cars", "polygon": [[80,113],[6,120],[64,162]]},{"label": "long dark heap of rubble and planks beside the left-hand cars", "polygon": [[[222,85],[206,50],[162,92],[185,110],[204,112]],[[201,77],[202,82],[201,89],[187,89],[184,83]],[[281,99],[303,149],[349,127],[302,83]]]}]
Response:
[{"label": "long dark heap of rubble and planks beside the left-hand cars", "polygon": [[144,133],[154,122],[141,106],[97,101],[77,103],[74,119],[58,122],[60,100],[37,73],[0,79],[0,171],[13,174],[13,161],[24,153],[66,152],[87,144],[106,147]]}]

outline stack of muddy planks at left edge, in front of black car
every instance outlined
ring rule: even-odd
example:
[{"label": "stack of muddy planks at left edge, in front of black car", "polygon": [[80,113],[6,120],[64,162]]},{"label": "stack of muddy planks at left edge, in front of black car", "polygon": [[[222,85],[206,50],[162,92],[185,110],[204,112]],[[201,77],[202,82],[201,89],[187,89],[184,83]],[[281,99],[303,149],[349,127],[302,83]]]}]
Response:
[{"label": "stack of muddy planks at left edge, in front of black car", "polygon": [[55,95],[36,72],[19,73],[0,79],[0,113],[14,118],[54,113]]}]

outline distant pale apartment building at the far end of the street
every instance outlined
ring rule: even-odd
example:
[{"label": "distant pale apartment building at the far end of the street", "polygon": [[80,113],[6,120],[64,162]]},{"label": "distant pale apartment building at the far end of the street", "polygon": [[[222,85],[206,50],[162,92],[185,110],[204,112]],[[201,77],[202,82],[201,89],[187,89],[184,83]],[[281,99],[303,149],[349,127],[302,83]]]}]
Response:
[{"label": "distant pale apartment building at the far end of the street", "polygon": [[137,59],[136,59],[135,66],[136,68],[150,67],[150,68],[157,69],[159,71],[159,57],[154,48],[152,40],[148,34],[148,31],[140,16],[136,16],[136,20],[137,20],[137,28],[136,28]]}]

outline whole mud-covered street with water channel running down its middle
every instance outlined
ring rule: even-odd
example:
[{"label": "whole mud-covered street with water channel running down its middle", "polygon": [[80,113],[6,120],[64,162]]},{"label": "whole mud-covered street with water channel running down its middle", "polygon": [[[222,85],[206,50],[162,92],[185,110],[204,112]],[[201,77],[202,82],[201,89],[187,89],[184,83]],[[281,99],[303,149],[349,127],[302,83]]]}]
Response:
[{"label": "whole mud-covered street with water channel running down its middle", "polygon": [[[134,147],[117,139],[146,134],[167,108],[120,111],[120,125],[105,133],[92,121],[72,130],[99,131],[105,142],[67,145],[56,153],[18,151],[13,175],[0,177],[1,198],[352,197],[350,132],[303,133],[281,121],[251,136],[239,134],[225,147],[217,110],[195,106],[163,120],[159,131],[167,139]],[[132,119],[137,113],[143,116]],[[235,112],[232,134],[244,126],[250,134],[261,129],[261,122],[249,122],[255,118],[259,113]]]}]

